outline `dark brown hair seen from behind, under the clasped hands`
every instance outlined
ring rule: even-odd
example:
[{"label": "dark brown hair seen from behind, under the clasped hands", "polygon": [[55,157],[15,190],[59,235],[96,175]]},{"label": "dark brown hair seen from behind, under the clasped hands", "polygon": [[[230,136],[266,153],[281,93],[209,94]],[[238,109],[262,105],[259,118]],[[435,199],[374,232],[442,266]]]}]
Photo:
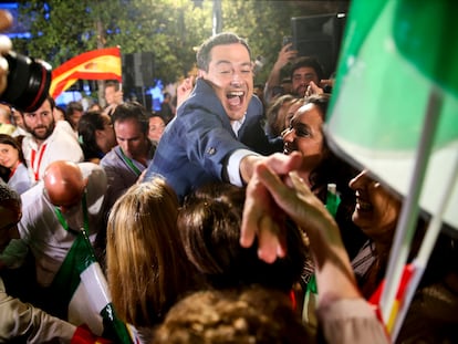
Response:
[{"label": "dark brown hair seen from behind, under the clasped hands", "polygon": [[178,213],[178,229],[186,254],[210,288],[260,284],[291,292],[300,282],[308,258],[302,232],[288,230],[288,257],[274,263],[258,259],[258,248],[239,243],[244,189],[209,184],[189,195]]}]

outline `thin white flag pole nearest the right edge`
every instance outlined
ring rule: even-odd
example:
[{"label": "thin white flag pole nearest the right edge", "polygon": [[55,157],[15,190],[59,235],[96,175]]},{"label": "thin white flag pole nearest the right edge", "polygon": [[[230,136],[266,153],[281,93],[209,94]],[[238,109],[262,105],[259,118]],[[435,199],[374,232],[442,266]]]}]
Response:
[{"label": "thin white flag pole nearest the right edge", "polygon": [[[458,170],[458,152],[456,154],[455,158],[455,165],[451,170],[457,171]],[[423,239],[420,249],[418,251],[417,257],[414,260],[414,275],[412,278],[412,281],[408,283],[408,288],[406,291],[405,296],[403,298],[402,304],[400,304],[400,311],[398,313],[398,316],[396,317],[394,330],[392,333],[392,340],[393,342],[396,341],[397,335],[399,334],[400,326],[404,322],[404,319],[407,314],[408,307],[412,303],[412,300],[414,298],[415,291],[418,286],[419,281],[421,280],[423,273],[426,270],[426,267],[428,264],[429,257],[431,256],[434,246],[437,241],[437,237],[440,233],[440,228],[443,225],[443,216],[446,211],[446,208],[450,201],[451,194],[452,194],[452,186],[456,185],[458,181],[458,174],[452,173],[449,175],[448,180],[444,185],[449,186],[446,187],[444,190],[444,195],[441,197],[441,201],[438,206],[437,211],[433,215],[433,218],[429,222],[429,226],[427,228],[427,231],[425,233],[425,238]]]}]

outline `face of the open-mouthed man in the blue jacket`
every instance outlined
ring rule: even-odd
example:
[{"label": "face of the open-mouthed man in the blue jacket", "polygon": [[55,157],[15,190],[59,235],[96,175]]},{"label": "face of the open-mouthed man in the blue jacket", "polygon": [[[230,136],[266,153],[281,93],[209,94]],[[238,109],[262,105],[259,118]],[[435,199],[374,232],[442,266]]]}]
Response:
[{"label": "face of the open-mouthed man in the blue jacket", "polygon": [[228,117],[241,119],[253,94],[253,73],[247,48],[241,43],[214,46],[208,72],[201,73],[211,83]]}]

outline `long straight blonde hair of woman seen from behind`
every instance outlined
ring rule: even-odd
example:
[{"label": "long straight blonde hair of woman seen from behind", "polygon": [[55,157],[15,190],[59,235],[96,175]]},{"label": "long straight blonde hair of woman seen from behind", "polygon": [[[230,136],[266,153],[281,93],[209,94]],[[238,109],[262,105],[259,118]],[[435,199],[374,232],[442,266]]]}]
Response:
[{"label": "long straight blonde hair of woman seen from behind", "polygon": [[113,206],[107,225],[107,280],[119,317],[158,323],[190,284],[176,226],[178,199],[160,178],[132,186]]}]

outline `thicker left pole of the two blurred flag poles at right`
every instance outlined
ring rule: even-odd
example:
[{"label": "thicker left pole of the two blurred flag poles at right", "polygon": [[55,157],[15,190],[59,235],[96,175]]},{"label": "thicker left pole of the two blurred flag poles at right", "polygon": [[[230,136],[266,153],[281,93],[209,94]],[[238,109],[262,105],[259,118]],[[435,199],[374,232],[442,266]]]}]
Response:
[{"label": "thicker left pole of the two blurred flag poles at right", "polygon": [[388,268],[385,274],[385,286],[382,291],[381,309],[384,323],[389,333],[396,319],[395,296],[399,286],[404,265],[407,262],[410,243],[415,233],[415,226],[419,212],[418,200],[426,175],[436,128],[439,122],[443,96],[435,85],[429,93],[428,106],[425,114],[421,137],[417,148],[413,178],[408,194],[403,202],[402,212],[389,254]]}]

